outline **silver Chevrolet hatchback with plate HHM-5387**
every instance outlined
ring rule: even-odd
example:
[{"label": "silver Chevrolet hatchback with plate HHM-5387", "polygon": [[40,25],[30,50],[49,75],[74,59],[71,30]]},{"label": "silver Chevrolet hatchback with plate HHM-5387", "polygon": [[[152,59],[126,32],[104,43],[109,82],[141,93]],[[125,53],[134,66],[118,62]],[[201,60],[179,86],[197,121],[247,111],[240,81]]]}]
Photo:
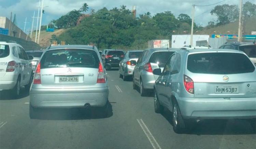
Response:
[{"label": "silver Chevrolet hatchback with plate HHM-5387", "polygon": [[255,130],[256,69],[241,51],[180,50],[155,82],[155,112],[168,108],[180,133],[202,119],[247,119]]}]

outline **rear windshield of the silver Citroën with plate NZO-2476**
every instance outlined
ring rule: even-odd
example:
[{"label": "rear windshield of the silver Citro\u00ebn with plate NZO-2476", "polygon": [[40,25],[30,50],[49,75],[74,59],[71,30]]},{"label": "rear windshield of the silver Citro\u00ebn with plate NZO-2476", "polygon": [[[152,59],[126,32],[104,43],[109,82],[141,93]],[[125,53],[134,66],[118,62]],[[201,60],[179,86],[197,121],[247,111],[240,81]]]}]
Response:
[{"label": "rear windshield of the silver Citro\u00ebn with plate NZO-2476", "polygon": [[41,60],[41,69],[57,67],[99,68],[99,58],[93,50],[63,49],[46,52]]}]

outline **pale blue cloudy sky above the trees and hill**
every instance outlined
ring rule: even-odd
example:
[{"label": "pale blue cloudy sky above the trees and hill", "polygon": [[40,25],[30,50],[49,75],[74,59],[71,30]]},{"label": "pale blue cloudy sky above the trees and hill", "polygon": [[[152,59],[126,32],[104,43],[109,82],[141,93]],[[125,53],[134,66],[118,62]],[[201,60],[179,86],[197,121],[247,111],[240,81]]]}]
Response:
[{"label": "pale blue cloudy sky above the trees and hill", "polygon": [[[42,0],[41,0],[42,1]],[[111,9],[113,7],[120,7],[120,5],[126,5],[130,10],[133,5],[137,6],[137,15],[144,14],[146,12],[151,12],[152,16],[156,13],[171,11],[175,16],[181,13],[188,14],[191,16],[192,5],[208,5],[212,3],[217,3],[222,0],[44,0],[44,10],[42,24],[49,23],[52,19],[58,19],[60,16],[66,14],[67,12],[76,9],[78,10],[82,3],[87,3],[89,5],[89,10],[91,8],[96,11],[100,8],[106,7]],[[244,3],[247,0],[244,0]],[[248,0],[252,3],[256,3],[256,0]],[[239,0],[226,0],[221,4],[238,4]],[[11,12],[16,14],[17,25],[23,29],[25,18],[27,17],[26,30],[31,29],[33,12],[37,16],[39,0],[1,0],[0,3],[0,16],[5,16],[10,18]],[[208,7],[196,7],[195,9],[195,22],[199,25],[207,25],[209,21],[216,19],[216,17],[210,14],[210,10],[214,8],[213,6]],[[199,16],[198,16],[199,15]],[[36,26],[36,20],[34,22],[34,27]]]}]

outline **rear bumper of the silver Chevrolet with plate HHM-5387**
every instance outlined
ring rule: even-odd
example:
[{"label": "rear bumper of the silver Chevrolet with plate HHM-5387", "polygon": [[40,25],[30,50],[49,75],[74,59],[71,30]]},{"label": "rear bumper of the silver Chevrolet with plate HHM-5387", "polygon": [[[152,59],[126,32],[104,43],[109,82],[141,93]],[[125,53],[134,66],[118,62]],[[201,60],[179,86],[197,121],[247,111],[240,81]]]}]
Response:
[{"label": "rear bumper of the silver Chevrolet with plate HHM-5387", "polygon": [[180,98],[177,100],[183,118],[228,119],[255,118],[256,98]]}]

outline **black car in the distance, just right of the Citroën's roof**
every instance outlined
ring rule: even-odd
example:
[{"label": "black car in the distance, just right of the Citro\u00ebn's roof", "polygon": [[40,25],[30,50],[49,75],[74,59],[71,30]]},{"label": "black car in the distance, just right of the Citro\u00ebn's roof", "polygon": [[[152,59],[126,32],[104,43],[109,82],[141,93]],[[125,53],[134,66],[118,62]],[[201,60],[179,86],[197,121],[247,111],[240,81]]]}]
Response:
[{"label": "black car in the distance, just right of the Citro\u00ebn's roof", "polygon": [[122,50],[108,50],[103,59],[106,70],[118,68],[119,62],[124,59],[125,53]]}]

